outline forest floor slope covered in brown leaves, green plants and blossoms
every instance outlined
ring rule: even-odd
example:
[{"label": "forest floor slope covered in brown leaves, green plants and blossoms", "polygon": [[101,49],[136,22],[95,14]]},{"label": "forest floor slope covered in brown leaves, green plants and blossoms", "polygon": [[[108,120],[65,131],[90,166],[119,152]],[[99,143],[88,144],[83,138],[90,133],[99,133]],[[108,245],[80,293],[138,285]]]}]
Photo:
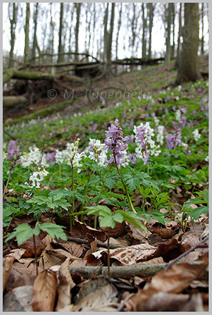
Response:
[{"label": "forest floor slope covered in brown leaves, green plants and blossoms", "polygon": [[[4,126],[4,311],[208,311],[208,80],[175,86],[173,65],[93,83],[135,98],[77,97],[59,113]],[[208,71],[206,56],[199,68]],[[93,159],[90,140],[104,143],[116,118],[130,152],[119,171]],[[133,132],[148,123],[160,152],[144,163]],[[77,138],[72,168],[66,154]]]}]

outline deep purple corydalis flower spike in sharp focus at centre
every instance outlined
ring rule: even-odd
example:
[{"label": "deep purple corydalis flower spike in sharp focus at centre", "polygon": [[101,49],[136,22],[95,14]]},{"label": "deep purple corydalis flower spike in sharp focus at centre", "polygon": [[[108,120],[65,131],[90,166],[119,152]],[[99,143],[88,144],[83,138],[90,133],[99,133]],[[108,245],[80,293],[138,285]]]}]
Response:
[{"label": "deep purple corydalis flower spike in sharp focus at centre", "polygon": [[129,137],[123,137],[123,130],[120,128],[118,119],[116,119],[115,124],[111,124],[111,127],[108,127],[108,130],[106,130],[106,138],[104,140],[106,144],[104,150],[108,149],[108,151],[112,152],[109,161],[106,160],[107,165],[115,162],[116,159],[118,168],[120,168],[120,159],[123,159],[125,156],[125,150],[128,148],[125,142],[128,139]]}]

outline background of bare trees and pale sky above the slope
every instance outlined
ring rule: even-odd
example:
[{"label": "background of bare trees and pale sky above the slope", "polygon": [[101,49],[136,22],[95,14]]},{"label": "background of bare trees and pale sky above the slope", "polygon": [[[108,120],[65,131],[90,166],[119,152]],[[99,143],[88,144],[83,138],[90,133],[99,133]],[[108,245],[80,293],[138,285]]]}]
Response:
[{"label": "background of bare trees and pale sky above the slope", "polygon": [[4,107],[35,103],[32,94],[44,91],[32,81],[92,87],[172,60],[178,83],[207,75],[197,69],[208,49],[207,4],[10,3],[4,13]]}]

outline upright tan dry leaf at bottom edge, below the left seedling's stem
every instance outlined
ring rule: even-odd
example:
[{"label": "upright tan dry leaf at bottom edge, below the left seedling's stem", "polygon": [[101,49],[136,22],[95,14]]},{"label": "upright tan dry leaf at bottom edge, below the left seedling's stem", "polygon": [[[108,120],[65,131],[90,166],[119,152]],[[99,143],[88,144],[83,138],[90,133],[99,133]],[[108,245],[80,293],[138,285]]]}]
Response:
[{"label": "upright tan dry leaf at bottom edge, below the left seedling's stem", "polygon": [[56,283],[54,271],[44,270],[39,273],[33,285],[33,311],[54,311]]}]

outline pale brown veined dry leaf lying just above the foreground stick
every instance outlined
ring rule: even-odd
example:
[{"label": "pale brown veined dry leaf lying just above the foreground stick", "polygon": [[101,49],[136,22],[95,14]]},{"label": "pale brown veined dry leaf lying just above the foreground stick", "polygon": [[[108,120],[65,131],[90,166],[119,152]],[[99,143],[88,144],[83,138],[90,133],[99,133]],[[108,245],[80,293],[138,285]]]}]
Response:
[{"label": "pale brown veined dry leaf lying just above the foreground stick", "polygon": [[[92,253],[94,257],[101,257],[101,253],[106,252],[107,249],[101,249],[98,252]],[[130,266],[137,263],[139,260],[145,260],[151,257],[156,252],[156,247],[148,243],[128,246],[125,248],[117,248],[110,250],[110,257],[117,259],[124,266]]]}]

